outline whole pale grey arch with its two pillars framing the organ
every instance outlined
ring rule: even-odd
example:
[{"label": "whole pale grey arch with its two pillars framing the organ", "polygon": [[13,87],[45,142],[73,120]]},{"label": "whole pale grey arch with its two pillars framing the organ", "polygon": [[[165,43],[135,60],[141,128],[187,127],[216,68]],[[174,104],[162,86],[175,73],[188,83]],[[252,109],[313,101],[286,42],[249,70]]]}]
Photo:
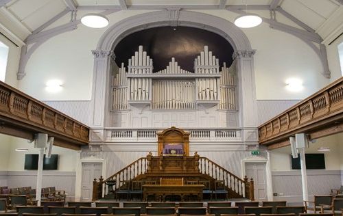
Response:
[{"label": "whole pale grey arch with its two pillars framing the organ", "polygon": [[[180,8],[171,8],[155,12],[147,12],[136,16],[123,19],[108,28],[99,39],[94,54],[94,73],[93,73],[93,120],[91,141],[104,141],[103,129],[110,126],[106,122],[105,116],[109,113],[108,105],[108,86],[110,77],[110,64],[115,58],[113,50],[118,42],[128,36],[130,33],[149,29],[152,27],[163,26],[187,26],[206,29],[219,34],[233,46],[233,58],[237,60],[237,70],[239,72],[239,96],[241,101],[247,101],[239,104],[241,115],[241,126],[250,128],[251,131],[244,137],[257,143],[257,120],[253,113],[256,109],[255,94],[255,72],[253,64],[253,54],[248,37],[241,29],[233,23],[217,16],[203,14],[201,12],[192,12],[180,10]],[[243,118],[244,116],[244,118]],[[254,135],[251,135],[254,133]]]}]

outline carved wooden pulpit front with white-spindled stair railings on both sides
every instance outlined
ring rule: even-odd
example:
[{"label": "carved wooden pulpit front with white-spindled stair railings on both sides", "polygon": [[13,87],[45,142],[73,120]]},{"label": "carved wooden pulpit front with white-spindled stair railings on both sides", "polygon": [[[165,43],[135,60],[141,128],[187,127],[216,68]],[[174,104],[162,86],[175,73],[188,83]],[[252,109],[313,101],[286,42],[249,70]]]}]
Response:
[{"label": "carved wooden pulpit front with white-spindled stair railings on both sides", "polygon": [[[178,160],[177,163],[171,157],[152,157],[151,154],[148,154],[147,157],[137,159],[137,161],[132,162],[106,180],[101,176],[99,180],[95,179],[93,182],[93,200],[111,197],[114,191],[123,187],[123,184],[128,183],[128,181],[159,180],[163,177],[209,180],[212,186],[214,186],[215,180],[222,180],[228,191],[228,198],[254,200],[254,183],[252,179],[250,181],[248,178],[241,179],[210,159],[199,157],[198,154],[193,157],[175,157],[175,160]],[[173,167],[175,164],[178,164],[178,166]],[[113,185],[113,190],[106,187],[106,185]]]}]

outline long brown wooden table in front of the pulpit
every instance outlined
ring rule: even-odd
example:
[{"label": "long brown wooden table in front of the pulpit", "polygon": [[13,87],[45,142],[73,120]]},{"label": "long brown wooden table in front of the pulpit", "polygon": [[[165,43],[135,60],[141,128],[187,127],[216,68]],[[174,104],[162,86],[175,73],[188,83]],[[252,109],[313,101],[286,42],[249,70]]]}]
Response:
[{"label": "long brown wooden table in front of the pulpit", "polygon": [[204,185],[143,185],[143,200],[147,200],[148,195],[156,195],[158,201],[164,202],[167,195],[180,195],[184,201],[185,195],[197,195],[198,200],[202,200],[202,189]]}]

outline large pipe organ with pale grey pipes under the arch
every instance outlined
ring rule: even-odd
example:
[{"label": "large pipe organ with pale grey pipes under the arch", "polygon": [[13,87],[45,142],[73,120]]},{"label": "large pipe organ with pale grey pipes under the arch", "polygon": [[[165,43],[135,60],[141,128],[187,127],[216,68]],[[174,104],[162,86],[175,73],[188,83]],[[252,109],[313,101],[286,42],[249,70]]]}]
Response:
[{"label": "large pipe organ with pale grey pipes under the arch", "polygon": [[194,60],[194,72],[183,70],[174,57],[165,69],[152,72],[152,59],[143,46],[128,59],[113,78],[112,110],[130,106],[150,109],[198,109],[199,106],[237,110],[235,67],[222,67],[204,46]]}]

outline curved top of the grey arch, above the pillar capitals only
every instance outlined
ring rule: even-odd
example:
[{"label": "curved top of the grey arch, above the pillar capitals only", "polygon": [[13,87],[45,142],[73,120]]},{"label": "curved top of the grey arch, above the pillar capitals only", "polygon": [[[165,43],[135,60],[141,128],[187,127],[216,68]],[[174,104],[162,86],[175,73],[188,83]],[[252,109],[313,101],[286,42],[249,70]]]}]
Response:
[{"label": "curved top of the grey arch, above the pillar capitals only", "polygon": [[171,8],[148,12],[123,19],[107,29],[97,44],[97,51],[114,50],[117,44],[131,33],[154,27],[194,27],[212,31],[225,38],[234,51],[252,51],[250,42],[241,29],[223,18]]}]

